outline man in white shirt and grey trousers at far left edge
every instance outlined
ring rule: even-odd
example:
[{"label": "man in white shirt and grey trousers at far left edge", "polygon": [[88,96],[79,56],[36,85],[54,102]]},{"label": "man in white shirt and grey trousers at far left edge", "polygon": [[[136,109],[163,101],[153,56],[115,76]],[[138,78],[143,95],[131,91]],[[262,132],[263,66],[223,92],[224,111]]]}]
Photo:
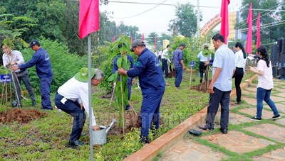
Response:
[{"label": "man in white shirt and grey trousers at far left edge", "polygon": [[[3,66],[5,68],[17,67],[18,65],[24,64],[24,57],[18,50],[11,50],[11,46],[2,44],[1,48],[4,52],[2,56]],[[28,95],[31,98],[32,106],[36,106],[35,94],[31,87],[30,79],[28,77],[28,70],[15,70],[12,72],[12,84],[15,87],[16,104],[12,106],[21,107],[21,81],[24,82],[25,87],[28,91]]]}]

